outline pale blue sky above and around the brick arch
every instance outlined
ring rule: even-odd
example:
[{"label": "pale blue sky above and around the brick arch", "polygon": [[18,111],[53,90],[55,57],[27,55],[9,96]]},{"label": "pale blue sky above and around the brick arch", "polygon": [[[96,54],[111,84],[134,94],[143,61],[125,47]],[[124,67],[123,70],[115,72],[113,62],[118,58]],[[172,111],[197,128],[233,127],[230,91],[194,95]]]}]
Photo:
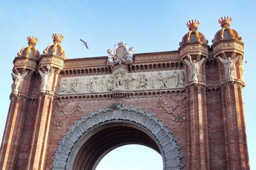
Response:
[{"label": "pale blue sky above and around the brick arch", "polygon": [[[159,52],[179,48],[182,36],[188,32],[186,22],[191,19],[200,20],[198,31],[211,45],[214,34],[220,29],[218,18],[229,16],[233,18],[231,27],[239,32],[245,43],[244,60],[248,60],[246,87],[243,89],[246,131],[251,169],[256,169],[256,116],[253,108],[256,96],[255,9],[253,0],[1,1],[0,139],[10,104],[12,61],[27,45],[27,36],[39,39],[36,47],[42,53],[52,43],[52,33],[63,34],[65,39],[61,45],[68,59],[107,55],[106,50],[113,48],[118,41],[134,46],[135,53]],[[89,42],[89,50],[81,45],[80,38]]]}]

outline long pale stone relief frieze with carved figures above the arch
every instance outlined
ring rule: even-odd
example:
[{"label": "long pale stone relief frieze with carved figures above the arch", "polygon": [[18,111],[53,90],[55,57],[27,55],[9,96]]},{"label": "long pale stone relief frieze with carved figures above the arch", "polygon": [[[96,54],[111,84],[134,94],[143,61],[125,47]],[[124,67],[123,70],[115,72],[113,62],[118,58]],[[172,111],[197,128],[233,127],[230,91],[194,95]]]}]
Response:
[{"label": "long pale stone relief frieze with carved figures above the arch", "polygon": [[61,78],[59,94],[90,94],[118,90],[178,89],[184,87],[184,70],[127,73]]}]

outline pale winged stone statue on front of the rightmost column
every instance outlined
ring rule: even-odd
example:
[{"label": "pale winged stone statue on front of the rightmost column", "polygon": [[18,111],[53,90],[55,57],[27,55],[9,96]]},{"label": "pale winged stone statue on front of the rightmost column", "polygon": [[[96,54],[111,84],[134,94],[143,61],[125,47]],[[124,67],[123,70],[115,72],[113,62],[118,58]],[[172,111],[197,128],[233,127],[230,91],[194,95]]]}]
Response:
[{"label": "pale winged stone statue on front of the rightmost column", "polygon": [[225,73],[227,73],[227,78],[235,78],[236,76],[236,62],[239,59],[239,56],[237,56],[234,59],[231,59],[230,57],[228,57],[227,59],[222,59],[221,57],[218,57],[218,59],[220,59],[220,61],[222,62],[222,64],[225,67]]}]

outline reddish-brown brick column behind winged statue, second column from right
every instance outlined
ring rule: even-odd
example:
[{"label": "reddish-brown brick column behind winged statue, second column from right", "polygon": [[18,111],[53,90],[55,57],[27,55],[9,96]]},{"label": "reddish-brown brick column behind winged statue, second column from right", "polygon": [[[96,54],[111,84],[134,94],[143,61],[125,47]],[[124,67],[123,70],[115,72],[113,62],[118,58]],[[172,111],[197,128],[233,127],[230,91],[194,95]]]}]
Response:
[{"label": "reddish-brown brick column behind winged statue, second column from right", "polygon": [[[200,60],[200,56],[194,56]],[[192,81],[188,66],[185,67],[187,118],[188,118],[188,166],[191,169],[210,169],[207,127],[205,64],[200,66],[198,81]]]}]

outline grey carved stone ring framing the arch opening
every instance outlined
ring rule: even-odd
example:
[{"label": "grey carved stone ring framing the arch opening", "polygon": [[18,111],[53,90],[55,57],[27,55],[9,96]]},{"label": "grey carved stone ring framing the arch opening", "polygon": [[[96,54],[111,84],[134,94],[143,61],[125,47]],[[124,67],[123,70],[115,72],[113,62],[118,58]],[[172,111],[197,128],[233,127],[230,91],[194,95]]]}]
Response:
[{"label": "grey carved stone ring framing the arch opening", "polygon": [[177,139],[173,138],[172,132],[161,120],[140,108],[118,103],[115,106],[90,113],[76,122],[60,141],[53,157],[52,169],[66,169],[70,152],[81,136],[97,128],[97,125],[116,120],[134,122],[138,127],[147,129],[156,138],[158,145],[161,146],[165,170],[184,167],[180,162],[182,155],[179,153],[180,147],[177,145]]}]

